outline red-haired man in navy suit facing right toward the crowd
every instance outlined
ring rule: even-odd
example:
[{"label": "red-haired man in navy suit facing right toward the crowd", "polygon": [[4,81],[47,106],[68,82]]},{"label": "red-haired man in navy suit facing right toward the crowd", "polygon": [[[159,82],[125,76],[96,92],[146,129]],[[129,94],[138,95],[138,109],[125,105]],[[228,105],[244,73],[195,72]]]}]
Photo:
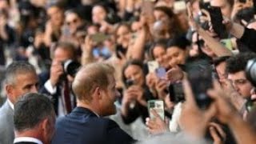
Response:
[{"label": "red-haired man in navy suit facing right toward the crowd", "polygon": [[65,117],[58,118],[52,143],[134,142],[116,122],[103,118],[116,113],[114,102],[118,91],[115,83],[112,66],[100,62],[83,66],[72,85],[78,107]]}]

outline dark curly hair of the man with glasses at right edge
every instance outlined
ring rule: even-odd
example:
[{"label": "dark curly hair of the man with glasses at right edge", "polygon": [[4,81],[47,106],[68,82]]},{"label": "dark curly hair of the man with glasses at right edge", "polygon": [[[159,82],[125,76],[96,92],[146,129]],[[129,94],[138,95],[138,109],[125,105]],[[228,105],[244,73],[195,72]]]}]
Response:
[{"label": "dark curly hair of the man with glasses at right edge", "polygon": [[242,70],[246,70],[247,62],[256,58],[256,54],[254,53],[240,53],[234,55],[226,60],[226,72],[228,74],[234,74]]}]

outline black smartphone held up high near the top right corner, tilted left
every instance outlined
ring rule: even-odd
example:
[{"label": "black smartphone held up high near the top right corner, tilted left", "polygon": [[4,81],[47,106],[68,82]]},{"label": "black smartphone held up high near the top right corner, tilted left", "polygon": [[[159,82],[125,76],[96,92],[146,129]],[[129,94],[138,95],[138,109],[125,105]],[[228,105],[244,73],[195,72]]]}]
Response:
[{"label": "black smartphone held up high near the top right corner, tilted left", "polygon": [[210,13],[211,24],[213,25],[214,32],[218,34],[218,37],[223,39],[227,37],[226,27],[222,23],[222,10],[218,6],[210,6],[208,9]]}]

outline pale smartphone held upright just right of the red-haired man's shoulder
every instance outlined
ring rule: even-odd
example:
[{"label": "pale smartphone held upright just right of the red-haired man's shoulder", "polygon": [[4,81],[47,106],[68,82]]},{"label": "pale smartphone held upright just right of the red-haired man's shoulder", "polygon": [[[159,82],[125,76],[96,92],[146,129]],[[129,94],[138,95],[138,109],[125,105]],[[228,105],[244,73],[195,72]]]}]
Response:
[{"label": "pale smartphone held upright just right of the red-haired man's shoulder", "polygon": [[150,114],[150,118],[154,119],[154,114],[152,114],[151,110],[154,109],[157,114],[162,118],[165,119],[165,107],[164,102],[162,100],[150,100],[147,102],[147,108]]}]

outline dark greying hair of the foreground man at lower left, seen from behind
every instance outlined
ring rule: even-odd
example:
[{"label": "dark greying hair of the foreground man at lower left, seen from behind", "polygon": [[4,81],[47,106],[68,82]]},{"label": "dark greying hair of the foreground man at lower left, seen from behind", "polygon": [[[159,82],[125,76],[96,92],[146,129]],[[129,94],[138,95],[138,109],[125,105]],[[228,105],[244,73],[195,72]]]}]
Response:
[{"label": "dark greying hair of the foreground man at lower left, seen from behind", "polygon": [[14,129],[19,132],[33,129],[46,118],[54,118],[54,106],[46,95],[25,94],[14,105]]}]

